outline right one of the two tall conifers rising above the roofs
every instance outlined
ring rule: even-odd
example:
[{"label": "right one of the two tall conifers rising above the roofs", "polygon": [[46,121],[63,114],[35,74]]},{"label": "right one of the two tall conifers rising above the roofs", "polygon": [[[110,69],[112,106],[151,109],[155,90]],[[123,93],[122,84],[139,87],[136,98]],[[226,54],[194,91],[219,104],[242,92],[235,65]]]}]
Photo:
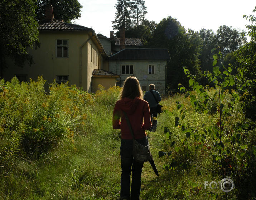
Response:
[{"label": "right one of the two tall conifers rising above the roofs", "polygon": [[132,0],[131,1],[131,12],[132,12],[132,23],[135,26],[139,26],[147,14],[146,6],[144,5],[145,1],[143,0]]}]

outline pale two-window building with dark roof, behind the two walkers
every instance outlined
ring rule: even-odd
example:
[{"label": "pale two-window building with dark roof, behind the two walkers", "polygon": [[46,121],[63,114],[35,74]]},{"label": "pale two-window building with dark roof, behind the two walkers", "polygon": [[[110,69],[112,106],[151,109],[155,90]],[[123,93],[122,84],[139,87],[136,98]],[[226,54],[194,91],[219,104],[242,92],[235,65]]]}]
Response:
[{"label": "pale two-window building with dark roof, behind the two walkers", "polygon": [[149,84],[166,94],[166,65],[170,60],[168,49],[123,49],[108,57],[109,71],[120,75],[117,85],[128,76],[136,76],[144,91]]}]

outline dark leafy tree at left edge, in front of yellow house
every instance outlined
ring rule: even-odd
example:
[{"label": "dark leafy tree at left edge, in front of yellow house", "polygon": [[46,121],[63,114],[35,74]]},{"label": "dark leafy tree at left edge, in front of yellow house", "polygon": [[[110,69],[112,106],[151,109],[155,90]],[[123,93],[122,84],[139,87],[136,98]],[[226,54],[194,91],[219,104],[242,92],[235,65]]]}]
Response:
[{"label": "dark leafy tree at left edge, in front of yellow house", "polygon": [[0,76],[3,76],[7,57],[18,66],[32,63],[27,48],[39,42],[37,26],[35,0],[0,1]]}]

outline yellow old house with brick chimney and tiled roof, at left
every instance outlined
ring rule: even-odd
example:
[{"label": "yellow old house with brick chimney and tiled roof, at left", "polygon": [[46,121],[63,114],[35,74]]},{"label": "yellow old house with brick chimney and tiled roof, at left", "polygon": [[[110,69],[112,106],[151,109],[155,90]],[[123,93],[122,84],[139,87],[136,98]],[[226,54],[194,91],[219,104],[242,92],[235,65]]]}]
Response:
[{"label": "yellow old house with brick chimney and tiled roof, at left", "polygon": [[[104,63],[108,67],[106,52],[94,30],[55,20],[52,6],[47,7],[46,20],[39,24],[38,30],[40,47],[28,49],[34,63],[21,68],[10,61],[3,78],[10,80],[17,76],[20,81],[28,81],[42,75],[48,83],[54,79],[57,83],[69,81],[70,85],[93,91],[92,86],[98,81],[92,82],[93,71],[102,69]],[[112,79],[116,82],[116,78],[107,77],[111,79],[108,79],[110,86],[115,86]],[[107,80],[106,77],[104,79]]]}]

